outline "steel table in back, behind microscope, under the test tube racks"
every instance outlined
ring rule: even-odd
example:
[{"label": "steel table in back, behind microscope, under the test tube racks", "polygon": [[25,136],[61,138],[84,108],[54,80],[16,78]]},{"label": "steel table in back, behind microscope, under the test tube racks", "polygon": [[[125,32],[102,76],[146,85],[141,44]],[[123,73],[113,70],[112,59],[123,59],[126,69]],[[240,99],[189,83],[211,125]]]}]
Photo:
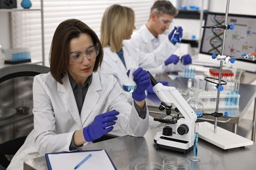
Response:
[{"label": "steel table in back, behind microscope, under the test tube racks", "polygon": [[[177,77],[175,80],[171,80],[167,75],[156,76],[156,80],[166,80],[169,82],[169,86],[173,86],[175,88],[187,88],[188,78]],[[240,84],[240,101],[239,101],[239,109],[219,109],[219,112],[228,112],[228,118],[220,117],[218,118],[219,125],[225,129],[229,129],[234,133],[238,133],[244,137],[247,137],[249,131],[252,129],[252,137],[251,139],[255,141],[255,105],[253,111],[253,121],[251,120],[243,120],[243,116],[247,111],[249,105],[254,101],[256,102],[256,86],[251,84]],[[216,93],[217,96],[217,93]],[[184,96],[186,99],[188,96]],[[148,110],[152,116],[157,116],[158,114],[162,114],[165,111],[160,111],[158,107],[160,106],[160,99],[153,94],[150,93],[146,97],[146,103],[148,105]],[[215,109],[208,109],[205,112],[215,112]],[[213,116],[203,116],[199,121],[207,120],[209,122],[214,121]],[[231,128],[229,126],[232,126]],[[238,126],[240,125],[240,128]]]}]

